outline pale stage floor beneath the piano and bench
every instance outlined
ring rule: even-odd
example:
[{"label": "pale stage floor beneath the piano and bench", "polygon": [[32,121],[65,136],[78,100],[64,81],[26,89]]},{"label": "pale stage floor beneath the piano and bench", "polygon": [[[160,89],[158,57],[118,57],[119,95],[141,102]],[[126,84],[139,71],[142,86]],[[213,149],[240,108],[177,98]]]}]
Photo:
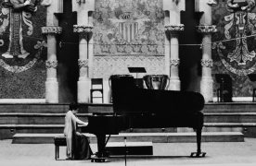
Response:
[{"label": "pale stage floor beneath the piano and bench", "polygon": [[[0,162],[3,166],[124,166],[124,157],[110,158],[106,163],[90,160],[65,160],[65,147],[60,147],[60,160],[54,159],[53,144],[11,144],[11,140],[0,140]],[[92,147],[95,150],[95,147]],[[153,156],[129,157],[127,166],[254,166],[256,164],[256,138],[246,138],[245,142],[202,143],[205,158],[189,158],[196,149],[194,143],[153,144]]]}]

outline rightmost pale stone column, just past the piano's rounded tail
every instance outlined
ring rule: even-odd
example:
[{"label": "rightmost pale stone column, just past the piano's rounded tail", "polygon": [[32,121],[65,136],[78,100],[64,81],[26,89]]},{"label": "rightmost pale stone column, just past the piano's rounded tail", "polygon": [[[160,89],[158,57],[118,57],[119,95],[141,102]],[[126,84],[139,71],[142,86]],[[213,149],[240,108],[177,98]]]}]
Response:
[{"label": "rightmost pale stone column, just past the piano's rounded tail", "polygon": [[200,92],[205,101],[213,101],[213,79],[211,77],[211,33],[216,32],[216,26],[211,25],[211,4],[208,1],[196,0],[196,11],[203,12],[200,18],[198,31],[203,34],[202,38],[202,77]]}]

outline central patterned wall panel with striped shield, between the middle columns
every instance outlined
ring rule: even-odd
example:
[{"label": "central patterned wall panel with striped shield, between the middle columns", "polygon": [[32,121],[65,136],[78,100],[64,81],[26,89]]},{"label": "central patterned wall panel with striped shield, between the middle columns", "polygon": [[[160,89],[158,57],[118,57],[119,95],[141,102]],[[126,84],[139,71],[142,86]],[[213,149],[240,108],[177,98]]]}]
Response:
[{"label": "central patterned wall panel with striped shield, between the middle columns", "polygon": [[93,77],[127,74],[143,66],[164,74],[161,0],[96,0]]}]

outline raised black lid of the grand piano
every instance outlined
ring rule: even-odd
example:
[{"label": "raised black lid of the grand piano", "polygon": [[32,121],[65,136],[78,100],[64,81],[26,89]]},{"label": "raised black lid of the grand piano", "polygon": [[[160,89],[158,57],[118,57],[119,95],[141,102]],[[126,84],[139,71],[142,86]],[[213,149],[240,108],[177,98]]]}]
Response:
[{"label": "raised black lid of the grand piano", "polygon": [[138,89],[134,77],[110,77],[115,113],[172,114],[203,109],[201,94],[192,91]]}]

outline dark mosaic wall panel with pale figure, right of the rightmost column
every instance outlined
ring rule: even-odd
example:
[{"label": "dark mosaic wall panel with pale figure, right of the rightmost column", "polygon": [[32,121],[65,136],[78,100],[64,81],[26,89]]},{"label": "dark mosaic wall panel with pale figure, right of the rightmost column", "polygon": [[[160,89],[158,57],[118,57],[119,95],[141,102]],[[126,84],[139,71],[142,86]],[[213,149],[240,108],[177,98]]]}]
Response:
[{"label": "dark mosaic wall panel with pale figure, right of the rightmost column", "polygon": [[[212,18],[218,29],[212,35],[212,74],[232,77],[233,96],[251,96],[254,85],[248,75],[256,70],[256,9],[233,10],[219,0],[213,6]],[[215,82],[215,91],[218,86]]]}]

